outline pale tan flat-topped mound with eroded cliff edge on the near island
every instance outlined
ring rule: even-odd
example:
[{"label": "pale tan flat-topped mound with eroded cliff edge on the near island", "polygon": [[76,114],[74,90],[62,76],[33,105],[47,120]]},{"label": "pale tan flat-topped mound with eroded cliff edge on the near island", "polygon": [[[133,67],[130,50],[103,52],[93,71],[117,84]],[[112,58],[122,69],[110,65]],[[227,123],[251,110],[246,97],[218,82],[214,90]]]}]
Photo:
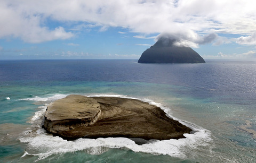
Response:
[{"label": "pale tan flat-topped mound with eroded cliff edge on the near island", "polygon": [[100,104],[93,98],[70,95],[52,102],[45,111],[44,128],[50,133],[93,125],[100,117]]}]

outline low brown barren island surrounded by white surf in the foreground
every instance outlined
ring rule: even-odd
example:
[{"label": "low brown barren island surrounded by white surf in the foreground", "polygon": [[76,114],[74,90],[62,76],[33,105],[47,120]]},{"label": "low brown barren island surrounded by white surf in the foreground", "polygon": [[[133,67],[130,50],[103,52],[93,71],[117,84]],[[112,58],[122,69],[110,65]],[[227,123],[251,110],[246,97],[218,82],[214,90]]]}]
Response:
[{"label": "low brown barren island surrounded by white surf in the foreground", "polygon": [[82,95],[51,102],[45,111],[43,128],[67,140],[108,137],[169,140],[185,138],[183,134],[192,131],[148,102]]}]

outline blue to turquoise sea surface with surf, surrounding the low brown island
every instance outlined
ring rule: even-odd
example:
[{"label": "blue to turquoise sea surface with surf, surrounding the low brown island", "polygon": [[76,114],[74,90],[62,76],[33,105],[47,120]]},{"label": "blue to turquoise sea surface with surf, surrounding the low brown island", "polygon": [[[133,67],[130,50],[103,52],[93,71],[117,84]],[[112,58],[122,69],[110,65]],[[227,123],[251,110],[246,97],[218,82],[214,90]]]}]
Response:
[{"label": "blue to turquoise sea surface with surf, surrounding the low brown island", "polygon": [[[142,145],[47,134],[47,105],[70,94],[148,101],[193,132]],[[0,61],[0,162],[256,162],[256,62]]]}]

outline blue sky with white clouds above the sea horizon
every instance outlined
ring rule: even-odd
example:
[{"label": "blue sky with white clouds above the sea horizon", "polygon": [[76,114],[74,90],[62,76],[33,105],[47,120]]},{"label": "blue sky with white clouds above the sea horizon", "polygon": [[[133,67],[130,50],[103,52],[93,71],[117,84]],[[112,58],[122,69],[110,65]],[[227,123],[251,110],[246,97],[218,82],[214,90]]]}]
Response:
[{"label": "blue sky with white clouds above the sea horizon", "polygon": [[139,59],[161,36],[256,60],[254,0],[0,0],[0,59]]}]

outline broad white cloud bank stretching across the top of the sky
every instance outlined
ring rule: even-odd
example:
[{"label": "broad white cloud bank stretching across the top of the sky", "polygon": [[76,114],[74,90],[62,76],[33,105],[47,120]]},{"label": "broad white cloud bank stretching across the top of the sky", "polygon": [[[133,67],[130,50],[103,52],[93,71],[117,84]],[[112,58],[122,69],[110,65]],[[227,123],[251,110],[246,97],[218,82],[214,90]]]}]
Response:
[{"label": "broad white cloud bank stretching across the top of the sky", "polygon": [[[99,31],[122,27],[145,34],[185,33],[188,39],[180,43],[194,42],[194,46],[212,42],[217,35],[211,33],[248,36],[256,28],[254,0],[0,1],[0,38],[18,37],[34,43],[71,38],[74,31],[84,30],[76,28],[80,24],[97,26]],[[47,27],[48,20],[76,27],[67,32],[64,27]],[[239,38],[238,44],[243,44],[239,42],[255,44],[250,37]]]}]

